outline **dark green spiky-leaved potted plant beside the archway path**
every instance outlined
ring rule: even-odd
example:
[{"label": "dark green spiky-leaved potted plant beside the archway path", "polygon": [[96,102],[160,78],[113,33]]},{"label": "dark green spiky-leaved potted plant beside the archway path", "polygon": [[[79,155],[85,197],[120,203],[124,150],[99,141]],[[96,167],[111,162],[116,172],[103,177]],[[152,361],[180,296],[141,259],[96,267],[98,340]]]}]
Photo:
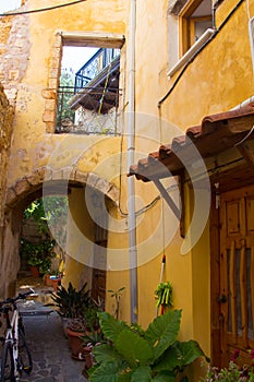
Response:
[{"label": "dark green spiky-leaved potted plant beside the archway path", "polygon": [[87,289],[87,283],[80,290],[76,290],[72,283],[69,283],[68,289],[63,286],[58,287],[51,299],[61,317],[80,319],[83,318],[84,310],[90,306],[90,290]]}]

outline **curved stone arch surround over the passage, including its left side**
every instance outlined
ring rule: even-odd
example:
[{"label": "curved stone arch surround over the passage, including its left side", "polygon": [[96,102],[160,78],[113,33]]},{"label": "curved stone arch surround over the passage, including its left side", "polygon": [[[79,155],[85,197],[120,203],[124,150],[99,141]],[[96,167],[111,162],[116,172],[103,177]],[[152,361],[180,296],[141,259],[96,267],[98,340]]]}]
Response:
[{"label": "curved stone arch surround over the passage, including its left side", "polygon": [[19,243],[23,212],[35,199],[46,194],[66,194],[71,189],[88,186],[101,193],[116,206],[119,190],[107,180],[93,172],[65,167],[55,170],[41,167],[31,175],[16,180],[9,187],[4,213],[4,235],[2,237],[2,262],[0,265],[0,296],[7,297],[15,293],[15,279],[20,267]]}]

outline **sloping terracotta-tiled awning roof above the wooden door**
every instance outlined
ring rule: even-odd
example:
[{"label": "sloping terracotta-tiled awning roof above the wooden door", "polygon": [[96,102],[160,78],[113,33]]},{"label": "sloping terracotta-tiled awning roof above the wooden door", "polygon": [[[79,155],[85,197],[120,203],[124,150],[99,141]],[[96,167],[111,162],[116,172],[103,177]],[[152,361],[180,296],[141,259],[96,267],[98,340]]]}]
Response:
[{"label": "sloping terracotta-tiled awning roof above the wooden door", "polygon": [[[146,158],[131,166],[129,176],[149,181],[180,174],[184,165],[180,160],[192,160],[192,143],[203,158],[216,155],[234,146],[254,126],[254,103],[247,106],[206,116],[201,126],[186,129],[185,135],[176,136],[164,144],[158,152],[147,154]],[[250,138],[250,136],[249,136]],[[169,174],[170,171],[170,174]]]}]

